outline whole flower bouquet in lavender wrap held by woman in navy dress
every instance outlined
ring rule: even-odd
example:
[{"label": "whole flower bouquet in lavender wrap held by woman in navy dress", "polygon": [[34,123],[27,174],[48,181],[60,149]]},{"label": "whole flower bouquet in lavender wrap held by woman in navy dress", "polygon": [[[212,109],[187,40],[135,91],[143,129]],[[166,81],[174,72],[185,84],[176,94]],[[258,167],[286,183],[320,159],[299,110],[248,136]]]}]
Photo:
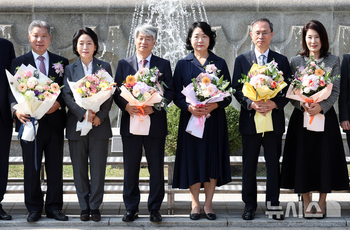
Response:
[{"label": "whole flower bouquet in lavender wrap held by woman in navy dress", "polygon": [[[226,90],[229,82],[220,78],[220,70],[214,64],[205,67],[206,73],[200,73],[196,78],[192,78],[192,83],[181,91],[186,96],[186,102],[192,106],[204,106],[207,103],[223,101],[225,97],[235,93],[235,90],[229,88]],[[196,137],[202,138],[204,132],[204,123],[210,114],[201,117],[192,115],[186,127],[186,132]]]}]

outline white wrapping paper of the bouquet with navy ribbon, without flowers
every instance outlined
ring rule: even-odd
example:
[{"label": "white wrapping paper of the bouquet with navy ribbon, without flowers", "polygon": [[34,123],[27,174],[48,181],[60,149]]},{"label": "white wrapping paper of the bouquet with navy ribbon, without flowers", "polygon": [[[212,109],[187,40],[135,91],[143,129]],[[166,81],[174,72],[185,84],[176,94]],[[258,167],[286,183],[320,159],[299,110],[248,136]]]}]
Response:
[{"label": "white wrapping paper of the bouquet with navy ribbon, without flowers", "polygon": [[[59,90],[56,93],[57,95],[56,96],[53,95],[52,98],[46,97],[45,100],[43,101],[38,100],[35,97],[32,97],[31,99],[26,99],[17,90],[17,87],[19,84],[19,82],[17,81],[17,76],[20,75],[20,73],[22,73],[23,71],[31,71],[32,73],[34,73],[35,70],[36,68],[33,67],[32,65],[25,66],[24,64],[22,64],[19,67],[17,73],[15,74],[15,77],[12,76],[10,72],[8,72],[7,70],[6,70],[6,75],[10,84],[11,92],[13,96],[16,98],[16,101],[18,103],[13,108],[16,109],[21,114],[30,115],[31,117],[34,117],[35,119],[38,120],[41,117],[43,117],[43,115],[45,115],[49,111],[49,109],[53,106],[53,103],[56,101],[57,96],[61,93],[61,91]],[[37,78],[37,81],[39,82],[39,84],[44,84],[46,80],[51,80],[51,79],[49,77],[46,77],[41,72],[39,72],[39,78]],[[13,82],[13,84],[11,84],[11,82]],[[39,126],[38,122],[35,123],[35,129],[31,121],[27,121],[26,123],[27,125],[24,126],[21,139],[26,141],[34,141],[35,135],[37,133],[37,129]]]}]

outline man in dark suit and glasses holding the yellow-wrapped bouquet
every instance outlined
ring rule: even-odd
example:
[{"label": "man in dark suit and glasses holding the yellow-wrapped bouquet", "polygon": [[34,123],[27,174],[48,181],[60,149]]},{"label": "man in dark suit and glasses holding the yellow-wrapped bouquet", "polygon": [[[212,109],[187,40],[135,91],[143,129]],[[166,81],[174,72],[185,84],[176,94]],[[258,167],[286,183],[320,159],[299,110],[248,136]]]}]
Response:
[{"label": "man in dark suit and glasses holding the yellow-wrapped bouquet", "polygon": [[[236,89],[234,94],[241,104],[239,132],[242,134],[243,172],[242,199],[245,202],[244,220],[252,220],[257,208],[256,170],[261,146],[264,148],[266,161],[266,207],[268,210],[278,209],[280,204],[280,155],[282,134],[284,133],[283,107],[288,103],[285,98],[288,87],[267,102],[252,101],[242,93],[243,84],[238,83],[241,74],[247,75],[253,63],[264,65],[273,59],[278,63],[278,69],[283,72],[285,81],[291,77],[288,59],[269,49],[273,37],[273,25],[268,19],[258,19],[251,23],[250,37],[255,48],[238,56],[235,60],[232,85]],[[272,110],[273,131],[257,134],[254,115],[259,112],[266,115]],[[284,216],[274,214],[274,219],[283,220]]]}]

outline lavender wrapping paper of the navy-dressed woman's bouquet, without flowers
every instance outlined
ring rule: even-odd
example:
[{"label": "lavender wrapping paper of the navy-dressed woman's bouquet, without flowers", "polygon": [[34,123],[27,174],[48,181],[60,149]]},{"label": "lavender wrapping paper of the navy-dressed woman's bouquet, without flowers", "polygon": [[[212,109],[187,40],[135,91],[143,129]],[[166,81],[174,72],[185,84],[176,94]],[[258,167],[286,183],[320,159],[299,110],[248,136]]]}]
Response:
[{"label": "lavender wrapping paper of the navy-dressed woman's bouquet, without flowers", "polygon": [[[195,96],[195,91],[192,83],[186,86],[186,88],[184,87],[181,93],[186,96],[186,102],[192,104],[192,106],[205,105],[207,103],[223,101],[225,97],[230,96],[228,92],[224,92],[210,97],[205,101],[198,101],[197,97]],[[203,115],[201,117],[195,117],[191,115],[186,127],[186,132],[192,134],[193,136],[202,138],[204,132],[204,123],[209,117],[210,114],[208,114],[207,116]]]}]

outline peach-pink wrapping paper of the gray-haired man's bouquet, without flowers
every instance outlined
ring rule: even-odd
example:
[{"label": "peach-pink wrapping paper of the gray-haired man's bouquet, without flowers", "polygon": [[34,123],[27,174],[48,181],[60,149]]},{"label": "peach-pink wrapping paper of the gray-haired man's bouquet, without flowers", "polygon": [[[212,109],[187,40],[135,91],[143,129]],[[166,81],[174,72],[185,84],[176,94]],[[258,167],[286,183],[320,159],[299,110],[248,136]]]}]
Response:
[{"label": "peach-pink wrapping paper of the gray-haired man's bouquet, without flowers", "polygon": [[[158,88],[161,90],[160,85]],[[131,106],[137,106],[138,109],[143,111],[144,106],[153,106],[156,103],[161,102],[163,93],[154,93],[147,100],[140,102],[136,99],[132,93],[125,86],[120,87],[122,96],[125,100],[129,102]],[[134,115],[134,117],[130,116],[130,126],[129,132],[134,135],[148,135],[151,127],[151,118],[149,115]]]}]

